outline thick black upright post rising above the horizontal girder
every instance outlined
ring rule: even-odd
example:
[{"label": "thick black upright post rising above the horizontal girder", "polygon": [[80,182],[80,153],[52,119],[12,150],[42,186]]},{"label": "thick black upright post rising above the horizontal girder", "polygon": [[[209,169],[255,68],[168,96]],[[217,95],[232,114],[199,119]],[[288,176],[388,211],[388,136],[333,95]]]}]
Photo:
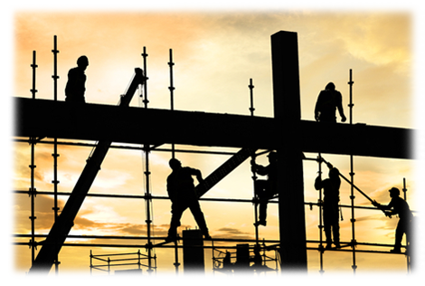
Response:
[{"label": "thick black upright post rising above the horizontal girder", "polygon": [[307,243],[297,33],[271,35],[274,117],[278,141],[279,234],[282,279],[307,279]]}]

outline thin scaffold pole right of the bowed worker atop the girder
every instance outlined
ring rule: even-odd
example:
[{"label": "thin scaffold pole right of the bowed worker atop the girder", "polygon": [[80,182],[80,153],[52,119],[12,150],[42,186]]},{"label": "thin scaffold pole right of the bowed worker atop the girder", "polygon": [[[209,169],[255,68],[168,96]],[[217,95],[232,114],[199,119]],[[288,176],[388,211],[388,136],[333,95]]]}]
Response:
[{"label": "thin scaffold pole right of the bowed worker atop the girder", "polygon": [[[348,84],[350,85],[350,104],[348,104],[349,108],[350,108],[350,124],[353,124],[353,70],[350,69],[350,81],[348,81]],[[350,155],[350,177],[351,177],[351,195],[350,195],[350,199],[351,199],[351,231],[352,231],[352,249],[353,249],[353,279],[356,279],[356,269],[357,269],[357,265],[355,264],[355,234],[354,234],[354,223],[355,223],[355,218],[354,218],[354,157],[353,155]]]}]

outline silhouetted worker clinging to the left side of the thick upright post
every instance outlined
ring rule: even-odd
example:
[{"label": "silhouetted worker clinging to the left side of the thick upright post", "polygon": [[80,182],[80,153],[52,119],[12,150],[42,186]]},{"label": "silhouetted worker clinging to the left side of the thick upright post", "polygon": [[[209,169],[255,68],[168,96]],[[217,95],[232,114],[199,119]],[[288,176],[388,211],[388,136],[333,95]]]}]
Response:
[{"label": "silhouetted worker clinging to the left side of the thick upright post", "polygon": [[251,171],[261,176],[268,176],[267,180],[256,180],[254,185],[254,192],[260,199],[260,214],[259,220],[256,225],[266,225],[267,218],[267,205],[269,199],[273,195],[278,194],[277,176],[278,176],[278,153],[270,152],[269,165],[264,167],[255,163],[254,160],[250,161]]}]

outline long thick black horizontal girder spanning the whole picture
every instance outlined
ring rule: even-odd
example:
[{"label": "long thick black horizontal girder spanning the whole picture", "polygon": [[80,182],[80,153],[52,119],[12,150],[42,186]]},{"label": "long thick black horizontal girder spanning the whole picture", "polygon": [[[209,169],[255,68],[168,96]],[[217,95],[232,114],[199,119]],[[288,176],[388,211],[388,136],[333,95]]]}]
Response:
[{"label": "long thick black horizontal girder spanning the whole picture", "polygon": [[425,130],[300,120],[284,129],[273,118],[119,108],[7,97],[7,135],[134,144],[273,149],[279,138],[303,152],[425,160]]}]

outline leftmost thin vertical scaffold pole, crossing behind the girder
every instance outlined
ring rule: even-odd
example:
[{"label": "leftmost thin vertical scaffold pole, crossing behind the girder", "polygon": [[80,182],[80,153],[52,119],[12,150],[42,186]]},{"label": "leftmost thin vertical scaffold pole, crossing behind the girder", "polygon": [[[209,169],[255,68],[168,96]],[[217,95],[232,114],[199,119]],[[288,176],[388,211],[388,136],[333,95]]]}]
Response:
[{"label": "leftmost thin vertical scaffold pole, crossing behind the girder", "polygon": [[[37,92],[37,90],[35,89],[35,69],[38,67],[38,65],[35,63],[36,62],[36,52],[33,51],[33,64],[31,64],[31,67],[33,68],[33,89],[31,90],[32,94],[33,94],[33,100],[35,100],[35,93]],[[34,168],[36,167],[34,165],[34,147],[35,147],[35,143],[36,143],[36,138],[30,137],[29,138],[29,143],[31,145],[31,165],[29,166],[31,169],[31,186],[30,186],[30,190],[28,195],[30,195],[31,197],[31,216],[30,216],[30,220],[31,220],[31,240],[30,240],[30,248],[31,248],[31,263],[33,265],[33,262],[35,261],[35,247],[36,247],[36,243],[35,243],[35,211],[34,211],[34,205],[35,205],[35,196],[36,194],[36,190],[34,187]]]}]

